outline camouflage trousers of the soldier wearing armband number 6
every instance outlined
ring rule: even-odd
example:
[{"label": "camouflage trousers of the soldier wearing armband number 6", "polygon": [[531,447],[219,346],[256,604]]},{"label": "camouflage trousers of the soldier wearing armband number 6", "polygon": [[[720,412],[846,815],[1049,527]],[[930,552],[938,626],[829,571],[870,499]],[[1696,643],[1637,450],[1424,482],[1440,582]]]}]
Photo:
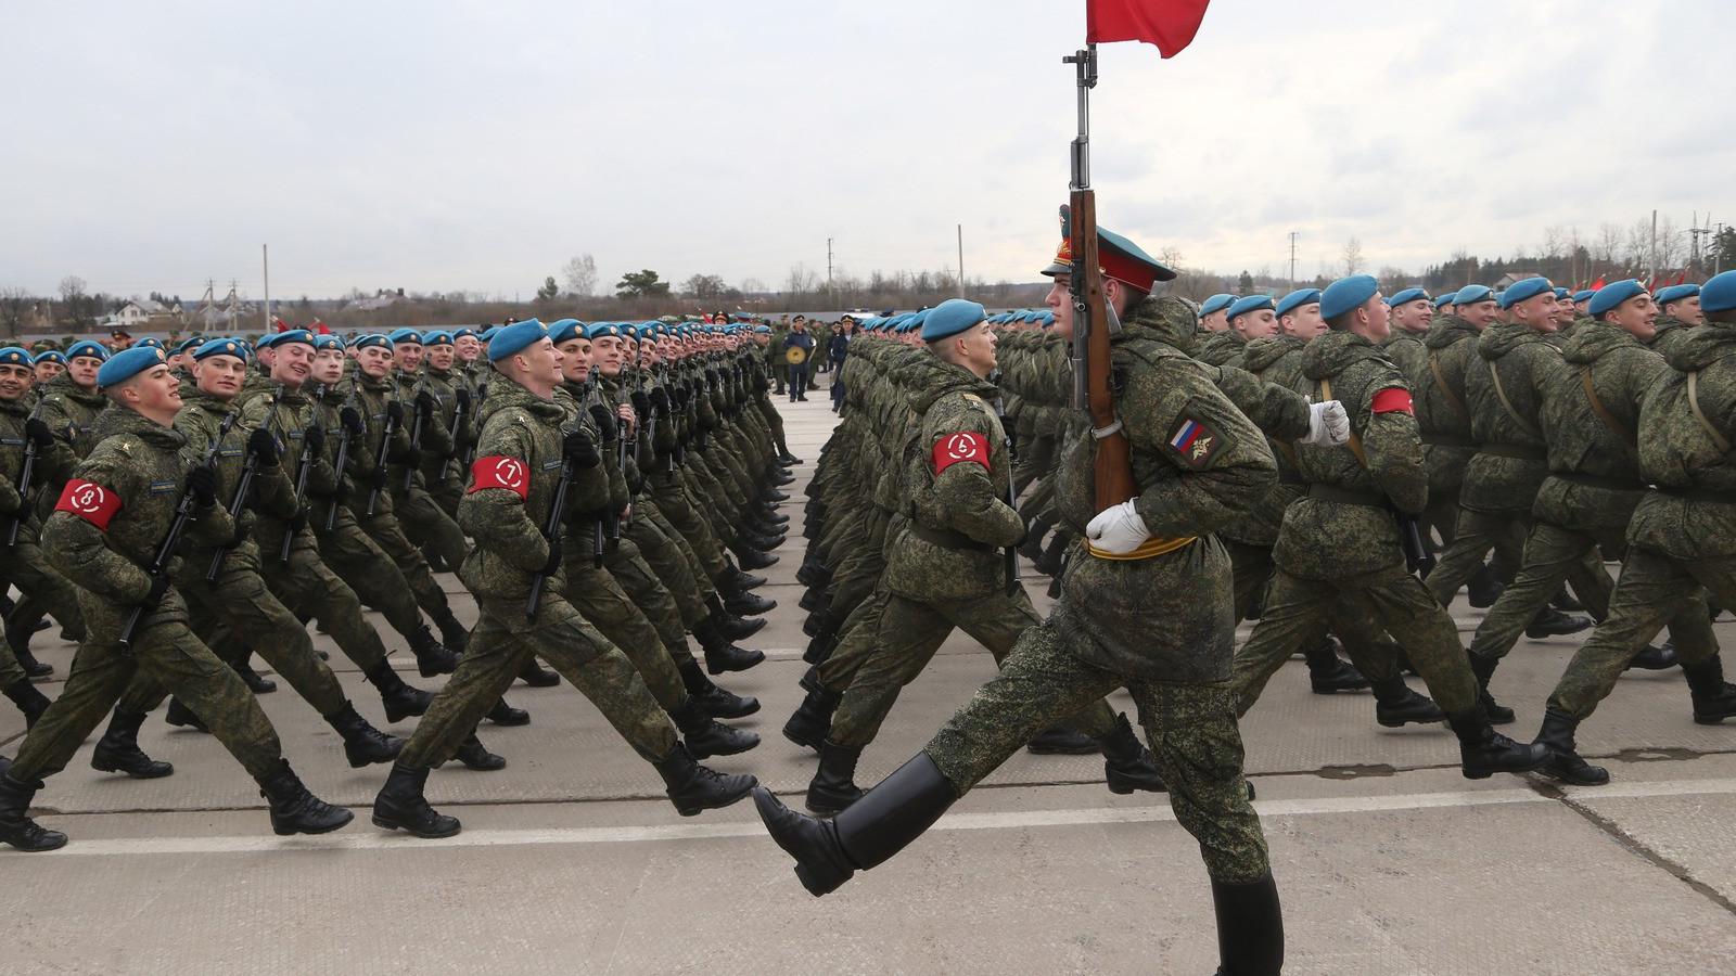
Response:
[{"label": "camouflage trousers of the soldier wearing armband number 6", "polygon": [[[953,629],[963,630],[988,648],[995,663],[1002,665],[1019,643],[1019,636],[1042,623],[1031,597],[1023,589],[1012,596],[993,592],[946,603],[925,603],[882,589],[870,601],[880,604],[877,623],[871,629],[858,627],[851,634],[849,643],[856,648],[844,655],[844,662],[859,660],[859,663],[847,677],[849,686],[826,735],[828,742],[852,748],[875,740],[880,724],[898,703],[899,691],[929,667]],[[868,648],[868,653],[861,655],[861,648]],[[833,679],[838,677],[838,670],[832,670]],[[1095,702],[1080,709],[1078,716],[1069,716],[1066,724],[1092,738],[1104,738],[1115,729],[1115,712],[1108,702]]]}]

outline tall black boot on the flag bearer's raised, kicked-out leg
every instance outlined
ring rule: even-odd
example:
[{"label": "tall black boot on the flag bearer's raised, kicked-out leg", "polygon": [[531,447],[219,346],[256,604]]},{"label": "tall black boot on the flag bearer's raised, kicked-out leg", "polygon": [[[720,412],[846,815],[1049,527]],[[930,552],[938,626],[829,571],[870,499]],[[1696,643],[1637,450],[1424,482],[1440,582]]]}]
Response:
[{"label": "tall black boot on the flag bearer's raised, kicked-out leg", "polygon": [[795,877],[816,898],[837,891],[858,870],[885,863],[955,802],[958,790],[927,752],[918,752],[832,820],[795,813],[764,787],[753,790],[766,830],[795,858]]}]

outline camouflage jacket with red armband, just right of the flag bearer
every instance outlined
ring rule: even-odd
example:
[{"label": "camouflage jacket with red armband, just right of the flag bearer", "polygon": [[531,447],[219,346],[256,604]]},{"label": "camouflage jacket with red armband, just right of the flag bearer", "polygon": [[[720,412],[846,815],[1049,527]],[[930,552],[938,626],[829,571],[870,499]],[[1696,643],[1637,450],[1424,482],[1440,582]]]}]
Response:
[{"label": "camouflage jacket with red armband, just right of the flag bearer", "polygon": [[1285,512],[1272,559],[1307,580],[1403,571],[1391,509],[1420,512],[1429,502],[1410,387],[1378,346],[1351,332],[1328,332],[1302,351],[1297,392],[1321,398],[1326,386],[1351,417],[1352,439],[1297,445],[1309,497]]}]

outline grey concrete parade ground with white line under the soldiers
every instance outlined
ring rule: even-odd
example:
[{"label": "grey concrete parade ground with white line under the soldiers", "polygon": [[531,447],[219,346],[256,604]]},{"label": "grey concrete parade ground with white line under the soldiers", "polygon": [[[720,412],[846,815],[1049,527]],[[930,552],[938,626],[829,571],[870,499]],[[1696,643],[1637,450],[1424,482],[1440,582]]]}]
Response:
[{"label": "grey concrete parade ground with white line under the soldiers", "polygon": [[[779,398],[807,458],[832,427],[825,391]],[[800,521],[795,502],[786,504]],[[814,759],[778,729],[800,700],[800,537],[767,570],[779,601],[753,641],[771,662],[722,683],[759,695],[741,724],[760,748],[713,764],[786,799]],[[457,594],[457,580],[446,577]],[[1040,587],[1033,596],[1045,603]],[[457,599],[464,618],[474,608]],[[1460,627],[1481,611],[1455,606]],[[384,623],[382,623],[384,629]],[[1736,637],[1720,623],[1719,636]],[[52,630],[45,632],[52,637]],[[1522,641],[1496,677],[1529,736],[1580,637]],[[378,700],[332,650],[370,721]],[[38,639],[66,674],[73,648]],[[408,651],[394,662],[413,676]],[[865,754],[871,783],[918,748],[993,670],[955,636]],[[415,681],[420,686],[432,683]],[[279,683],[281,684],[281,683]],[[1420,683],[1413,683],[1420,689]],[[54,683],[49,695],[57,693]],[[279,839],[253,783],[210,738],[146,722],[167,780],[95,773],[89,743],[38,794],[73,842],[0,851],[5,973],[1210,973],[1205,872],[1161,797],[1115,797],[1101,759],[1021,754],[904,854],[809,898],[752,804],[681,818],[641,762],[568,684],[517,686],[519,729],[484,722],[510,761],[429,780],[465,832],[425,842],[375,830],[384,768],[352,771],[337,736],[288,688],[260,702],[288,759],[358,821]],[[1130,702],[1116,703],[1132,710]],[[1285,898],[1293,974],[1736,973],[1736,722],[1689,721],[1679,672],[1630,674],[1581,729],[1609,766],[1601,790],[1467,781],[1439,726],[1380,729],[1368,695],[1316,696],[1286,663],[1243,736]],[[411,721],[413,722],[413,721]],[[408,735],[411,722],[392,728]],[[0,714],[0,752],[23,722]]]}]

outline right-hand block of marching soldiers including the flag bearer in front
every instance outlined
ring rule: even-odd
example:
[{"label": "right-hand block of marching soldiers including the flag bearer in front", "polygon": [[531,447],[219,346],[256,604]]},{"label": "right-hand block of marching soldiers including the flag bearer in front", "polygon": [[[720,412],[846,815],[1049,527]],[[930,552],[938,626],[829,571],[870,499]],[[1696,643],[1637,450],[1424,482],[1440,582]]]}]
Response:
[{"label": "right-hand block of marching soldiers including the flag bearer in front", "polygon": [[[1109,429],[1075,399],[1068,241],[1047,309],[951,300],[871,318],[851,347],[809,485],[811,667],[783,729],[819,754],[818,816],[755,790],[812,894],[894,856],[1021,747],[1101,752],[1113,792],[1168,792],[1198,839],[1220,973],[1278,973],[1236,721],[1292,655],[1316,693],[1371,689],[1382,726],[1446,722],[1467,778],[1606,783],[1575,729],[1630,667],[1680,667],[1694,722],[1736,716],[1706,596],[1736,599],[1736,273],[1656,295],[1531,278],[1389,297],[1351,276],[1194,306],[1161,295],[1174,273],[1127,238],[1097,245]],[[1095,445],[1116,431],[1139,493],[1099,512]],[[1047,618],[1017,554],[1054,577]],[[1467,585],[1489,608],[1470,648],[1446,611]],[[1495,731],[1516,721],[1489,679],[1517,637],[1594,625],[1536,736]],[[955,627],[996,677],[863,790],[863,748]],[[1104,703],[1116,688],[1149,748]]]}]

